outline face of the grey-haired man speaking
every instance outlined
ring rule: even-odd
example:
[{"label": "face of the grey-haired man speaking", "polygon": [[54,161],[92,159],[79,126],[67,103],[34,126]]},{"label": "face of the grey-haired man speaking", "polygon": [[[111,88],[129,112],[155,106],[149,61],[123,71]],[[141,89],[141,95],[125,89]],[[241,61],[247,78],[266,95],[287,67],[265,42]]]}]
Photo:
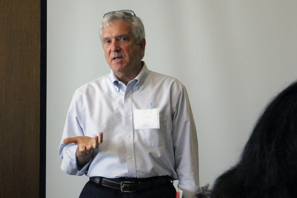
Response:
[{"label": "face of the grey-haired man speaking", "polygon": [[144,46],[135,43],[129,22],[113,20],[110,26],[102,31],[102,42],[105,58],[117,76],[129,75],[141,69],[140,56],[144,53]]}]

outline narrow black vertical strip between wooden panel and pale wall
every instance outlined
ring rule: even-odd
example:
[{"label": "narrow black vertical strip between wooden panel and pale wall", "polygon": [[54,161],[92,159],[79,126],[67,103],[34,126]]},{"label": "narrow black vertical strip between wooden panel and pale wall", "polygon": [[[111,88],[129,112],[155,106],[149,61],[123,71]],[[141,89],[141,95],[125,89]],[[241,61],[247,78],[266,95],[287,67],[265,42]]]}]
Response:
[{"label": "narrow black vertical strip between wooden panel and pale wall", "polygon": [[40,1],[40,180],[39,197],[45,198],[46,176],[46,33],[47,0]]}]

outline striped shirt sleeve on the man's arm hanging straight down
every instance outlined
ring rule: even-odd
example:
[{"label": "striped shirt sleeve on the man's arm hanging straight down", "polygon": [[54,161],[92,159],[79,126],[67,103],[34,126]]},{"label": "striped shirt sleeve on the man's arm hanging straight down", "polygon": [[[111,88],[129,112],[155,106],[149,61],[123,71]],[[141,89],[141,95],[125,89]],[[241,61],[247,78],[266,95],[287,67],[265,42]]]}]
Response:
[{"label": "striped shirt sleeve on the man's arm hanging straight down", "polygon": [[196,197],[201,191],[199,187],[198,140],[196,126],[184,86],[178,91],[172,118],[173,149],[175,170],[178,174],[178,187],[184,198]]}]

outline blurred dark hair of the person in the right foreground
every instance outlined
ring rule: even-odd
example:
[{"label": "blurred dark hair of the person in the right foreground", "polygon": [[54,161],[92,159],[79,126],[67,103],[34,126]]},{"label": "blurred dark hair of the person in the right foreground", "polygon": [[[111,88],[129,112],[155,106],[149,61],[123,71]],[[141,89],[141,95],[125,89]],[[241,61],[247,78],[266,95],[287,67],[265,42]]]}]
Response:
[{"label": "blurred dark hair of the person in the right foreground", "polygon": [[297,196],[297,82],[266,107],[239,163],[217,178],[211,197]]}]

